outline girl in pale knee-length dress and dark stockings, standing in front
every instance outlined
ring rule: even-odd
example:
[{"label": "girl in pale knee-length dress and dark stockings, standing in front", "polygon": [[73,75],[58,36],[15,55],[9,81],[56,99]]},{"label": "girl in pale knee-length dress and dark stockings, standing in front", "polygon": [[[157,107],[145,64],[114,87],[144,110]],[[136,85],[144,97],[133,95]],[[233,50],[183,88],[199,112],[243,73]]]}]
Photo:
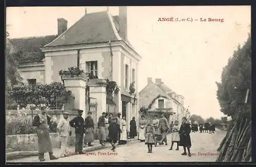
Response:
[{"label": "girl in pale knee-length dress and dark stockings, standing in front", "polygon": [[147,120],[147,125],[144,131],[145,145],[147,145],[148,153],[152,153],[152,146],[155,144],[155,128],[152,126],[152,121]]}]

